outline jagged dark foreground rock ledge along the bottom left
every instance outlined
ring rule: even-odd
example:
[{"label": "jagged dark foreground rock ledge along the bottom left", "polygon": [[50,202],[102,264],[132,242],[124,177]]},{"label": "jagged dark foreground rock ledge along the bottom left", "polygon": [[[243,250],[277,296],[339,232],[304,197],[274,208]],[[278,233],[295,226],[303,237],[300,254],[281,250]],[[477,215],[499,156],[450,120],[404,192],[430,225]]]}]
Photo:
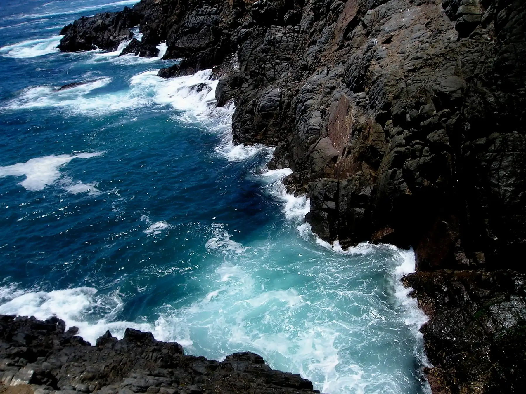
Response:
[{"label": "jagged dark foreground rock ledge along the bottom left", "polygon": [[[25,394],[309,394],[312,383],[299,375],[270,369],[250,352],[224,361],[185,355],[177,343],[127,329],[117,340],[109,331],[95,346],[65,331],[58,318],[0,315],[0,381],[3,391]],[[9,390],[8,390],[9,392]],[[13,393],[14,394],[14,393]]]}]

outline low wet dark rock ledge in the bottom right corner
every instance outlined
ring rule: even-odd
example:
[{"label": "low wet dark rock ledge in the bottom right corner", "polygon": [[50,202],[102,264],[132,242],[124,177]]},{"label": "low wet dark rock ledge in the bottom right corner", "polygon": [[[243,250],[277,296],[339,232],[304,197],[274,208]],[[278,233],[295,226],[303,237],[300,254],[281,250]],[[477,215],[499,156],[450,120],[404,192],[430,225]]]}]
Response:
[{"label": "low wet dark rock ledge in the bottom right corner", "polygon": [[526,275],[513,271],[410,274],[429,316],[421,331],[433,393],[521,392],[526,384]]}]

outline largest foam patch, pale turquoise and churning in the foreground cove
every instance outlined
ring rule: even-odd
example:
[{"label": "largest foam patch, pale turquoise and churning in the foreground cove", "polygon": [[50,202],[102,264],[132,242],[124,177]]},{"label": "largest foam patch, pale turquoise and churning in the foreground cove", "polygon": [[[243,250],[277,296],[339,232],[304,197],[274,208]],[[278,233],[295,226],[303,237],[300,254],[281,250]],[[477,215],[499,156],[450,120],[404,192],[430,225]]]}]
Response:
[{"label": "largest foam patch, pale turquoise and churning in the foreground cove", "polygon": [[[192,354],[205,352],[218,359],[232,351],[255,351],[272,367],[311,379],[323,392],[366,392],[370,377],[362,379],[360,365],[342,360],[346,348],[341,331],[350,327],[341,327],[345,320],[332,320],[337,307],[327,299],[320,299],[320,305],[311,303],[313,294],[307,297],[305,289],[266,289],[260,275],[265,277],[267,259],[260,257],[249,256],[240,265],[225,260],[210,277],[206,295],[189,306],[161,313],[156,336],[176,340]],[[308,267],[305,271],[316,274]],[[349,346],[347,341],[343,344]]]}]

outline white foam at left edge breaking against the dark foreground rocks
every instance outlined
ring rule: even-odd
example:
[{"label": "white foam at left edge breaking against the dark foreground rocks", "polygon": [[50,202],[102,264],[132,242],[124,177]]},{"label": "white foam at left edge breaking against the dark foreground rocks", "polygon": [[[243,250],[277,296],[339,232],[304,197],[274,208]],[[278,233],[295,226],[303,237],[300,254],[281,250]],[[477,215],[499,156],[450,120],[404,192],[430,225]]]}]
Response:
[{"label": "white foam at left edge breaking against the dark foreground rocks", "polygon": [[122,338],[127,327],[148,331],[151,326],[115,321],[123,308],[118,293],[99,295],[93,287],[75,287],[51,292],[25,291],[13,286],[0,287],[0,295],[15,290],[9,298],[3,298],[0,314],[35,316],[44,320],[51,316],[63,319],[67,327],[79,328],[79,335],[92,344],[110,330]]}]

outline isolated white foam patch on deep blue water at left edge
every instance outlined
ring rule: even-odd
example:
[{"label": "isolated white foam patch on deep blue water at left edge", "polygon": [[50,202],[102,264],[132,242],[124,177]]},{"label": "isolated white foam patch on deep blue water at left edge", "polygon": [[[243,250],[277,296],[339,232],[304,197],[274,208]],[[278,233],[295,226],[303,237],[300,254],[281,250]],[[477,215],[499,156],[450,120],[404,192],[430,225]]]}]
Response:
[{"label": "isolated white foam patch on deep blue water at left edge", "polygon": [[76,154],[59,154],[29,159],[25,163],[16,163],[0,167],[0,178],[22,177],[26,179],[19,183],[27,190],[38,191],[47,185],[55,183],[62,173],[59,168],[73,159],[89,159],[101,155],[103,152],[82,152]]}]

